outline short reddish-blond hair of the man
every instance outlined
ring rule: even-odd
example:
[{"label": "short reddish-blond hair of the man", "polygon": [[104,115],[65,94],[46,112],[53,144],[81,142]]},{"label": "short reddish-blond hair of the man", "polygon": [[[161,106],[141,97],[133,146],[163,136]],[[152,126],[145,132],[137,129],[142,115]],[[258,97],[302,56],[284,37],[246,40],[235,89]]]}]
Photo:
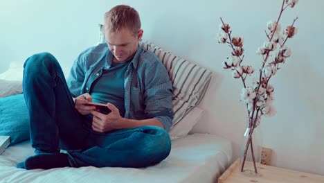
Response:
[{"label": "short reddish-blond hair of the man", "polygon": [[114,33],[123,28],[128,28],[136,35],[141,29],[141,20],[134,8],[118,5],[105,13],[105,30]]}]

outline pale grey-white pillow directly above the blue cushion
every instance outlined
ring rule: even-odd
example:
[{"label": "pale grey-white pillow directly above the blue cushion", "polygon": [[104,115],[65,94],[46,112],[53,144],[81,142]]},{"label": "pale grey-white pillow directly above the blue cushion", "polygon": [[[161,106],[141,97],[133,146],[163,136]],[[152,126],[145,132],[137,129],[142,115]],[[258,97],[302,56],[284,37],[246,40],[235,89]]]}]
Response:
[{"label": "pale grey-white pillow directly above the blue cushion", "polygon": [[22,81],[0,79],[0,98],[21,93]]}]

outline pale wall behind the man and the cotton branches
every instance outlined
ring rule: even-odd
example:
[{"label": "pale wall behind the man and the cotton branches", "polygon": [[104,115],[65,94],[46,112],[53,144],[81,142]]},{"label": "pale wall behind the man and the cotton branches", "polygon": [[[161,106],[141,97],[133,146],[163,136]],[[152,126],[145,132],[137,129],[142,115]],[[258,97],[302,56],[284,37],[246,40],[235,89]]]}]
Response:
[{"label": "pale wall behind the man and the cotton branches", "polygon": [[[264,28],[278,17],[281,1],[41,1],[0,0],[0,73],[10,62],[24,62],[49,51],[64,73],[80,51],[96,44],[98,23],[112,6],[126,3],[140,12],[144,38],[163,49],[215,72],[201,104],[206,116],[195,132],[210,132],[233,141],[238,157],[246,109],[239,102],[242,83],[224,71],[228,46],[215,35],[219,17],[231,24],[233,35],[244,37],[245,62],[260,66],[255,51],[264,40]],[[262,119],[264,146],[272,148],[273,165],[324,175],[324,1],[300,1],[282,15],[282,26],[299,17],[298,35],[289,40],[292,56],[271,79],[278,114]]]}]

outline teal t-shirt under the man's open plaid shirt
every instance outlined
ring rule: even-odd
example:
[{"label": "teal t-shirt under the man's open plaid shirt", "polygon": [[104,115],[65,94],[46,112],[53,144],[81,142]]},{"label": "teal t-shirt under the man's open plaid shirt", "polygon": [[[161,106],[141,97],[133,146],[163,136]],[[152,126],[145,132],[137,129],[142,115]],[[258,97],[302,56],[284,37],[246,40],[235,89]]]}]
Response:
[{"label": "teal t-shirt under the man's open plaid shirt", "polygon": [[92,101],[114,104],[118,108],[120,116],[125,115],[124,76],[129,63],[112,62],[109,69],[102,69],[101,76],[91,86]]}]

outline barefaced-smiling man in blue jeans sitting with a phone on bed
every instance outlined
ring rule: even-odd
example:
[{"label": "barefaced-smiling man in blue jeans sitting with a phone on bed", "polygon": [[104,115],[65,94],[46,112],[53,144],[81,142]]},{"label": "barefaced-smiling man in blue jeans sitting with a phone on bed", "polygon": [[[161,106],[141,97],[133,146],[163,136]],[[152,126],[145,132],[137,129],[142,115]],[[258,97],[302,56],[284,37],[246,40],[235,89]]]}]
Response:
[{"label": "barefaced-smiling man in blue jeans sitting with a phone on bed", "polygon": [[[26,60],[23,87],[36,155],[18,168],[145,167],[168,157],[172,83],[161,60],[138,46],[142,35],[138,12],[116,6],[105,14],[107,44],[82,52],[67,82],[50,53]],[[111,112],[91,101],[107,103]]]}]

